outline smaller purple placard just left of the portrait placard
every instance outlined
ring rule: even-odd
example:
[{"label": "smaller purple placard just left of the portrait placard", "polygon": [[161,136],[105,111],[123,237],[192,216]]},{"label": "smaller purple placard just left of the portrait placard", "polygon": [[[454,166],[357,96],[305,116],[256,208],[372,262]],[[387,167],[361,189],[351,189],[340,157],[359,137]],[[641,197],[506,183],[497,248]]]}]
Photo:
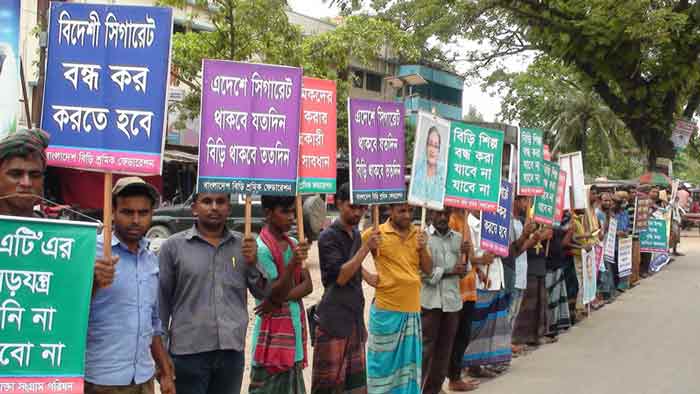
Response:
[{"label": "smaller purple placard just left of the portrait placard", "polygon": [[403,104],[349,99],[350,200],[406,201]]}]

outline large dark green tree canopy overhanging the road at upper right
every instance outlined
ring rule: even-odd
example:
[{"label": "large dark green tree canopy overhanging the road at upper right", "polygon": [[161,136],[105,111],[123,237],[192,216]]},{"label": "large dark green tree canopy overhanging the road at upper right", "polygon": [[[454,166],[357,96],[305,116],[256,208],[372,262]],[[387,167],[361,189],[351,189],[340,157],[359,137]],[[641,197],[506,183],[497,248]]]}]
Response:
[{"label": "large dark green tree canopy overhanging the road at upper right", "polygon": [[[355,0],[338,0],[356,5]],[[376,1],[375,1],[376,3]],[[387,3],[382,1],[381,3]],[[624,122],[647,165],[673,157],[675,120],[700,105],[700,2],[690,0],[407,0],[402,9],[436,19],[482,45],[462,59],[474,70],[504,56],[544,53],[574,68]],[[392,7],[392,5],[389,5]],[[693,144],[698,143],[697,138]],[[696,148],[696,146],[691,149]]]}]

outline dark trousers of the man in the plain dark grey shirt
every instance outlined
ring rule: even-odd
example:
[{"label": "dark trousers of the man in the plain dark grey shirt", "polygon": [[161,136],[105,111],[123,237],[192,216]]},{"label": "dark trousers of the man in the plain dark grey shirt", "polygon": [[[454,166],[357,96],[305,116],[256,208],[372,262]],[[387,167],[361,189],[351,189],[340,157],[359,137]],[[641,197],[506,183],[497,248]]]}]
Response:
[{"label": "dark trousers of the man in the plain dark grey shirt", "polygon": [[215,350],[172,355],[175,389],[186,394],[238,394],[243,381],[244,354]]}]

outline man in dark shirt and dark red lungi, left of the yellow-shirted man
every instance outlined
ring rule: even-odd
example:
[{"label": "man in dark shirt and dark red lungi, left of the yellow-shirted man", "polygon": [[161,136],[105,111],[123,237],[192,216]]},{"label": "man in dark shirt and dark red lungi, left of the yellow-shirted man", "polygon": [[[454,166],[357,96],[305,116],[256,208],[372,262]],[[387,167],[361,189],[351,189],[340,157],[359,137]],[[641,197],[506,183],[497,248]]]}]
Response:
[{"label": "man in dark shirt and dark red lungi, left of the yellow-shirted man", "polygon": [[367,241],[357,229],[367,208],[350,203],[350,185],[335,195],[339,218],[321,233],[318,255],[323,298],[316,309],[311,393],[367,392],[362,262],[379,245],[379,231]]}]

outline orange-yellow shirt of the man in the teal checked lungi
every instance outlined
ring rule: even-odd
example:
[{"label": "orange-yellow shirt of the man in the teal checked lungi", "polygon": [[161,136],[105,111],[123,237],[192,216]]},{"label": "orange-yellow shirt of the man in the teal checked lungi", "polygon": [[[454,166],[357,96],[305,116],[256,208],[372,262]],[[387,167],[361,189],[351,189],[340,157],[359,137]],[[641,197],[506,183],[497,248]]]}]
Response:
[{"label": "orange-yellow shirt of the man in the teal checked lungi", "polygon": [[[411,225],[408,235],[402,237],[391,224],[391,219],[379,226],[382,242],[374,256],[379,284],[375,292],[377,308],[396,312],[420,312],[420,255],[418,228]],[[366,240],[372,233],[362,234]]]}]

